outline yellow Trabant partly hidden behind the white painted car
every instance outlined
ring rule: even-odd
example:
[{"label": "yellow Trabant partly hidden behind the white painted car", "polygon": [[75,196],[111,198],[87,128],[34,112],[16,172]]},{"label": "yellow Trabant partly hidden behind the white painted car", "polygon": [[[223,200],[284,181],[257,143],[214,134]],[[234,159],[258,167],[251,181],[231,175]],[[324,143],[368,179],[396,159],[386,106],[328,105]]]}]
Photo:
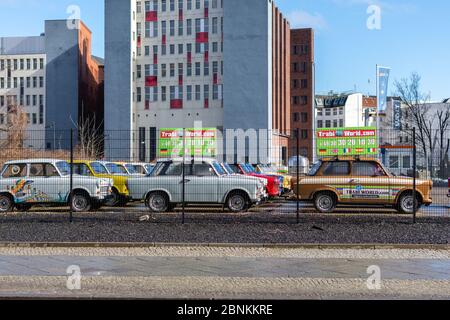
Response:
[{"label": "yellow Trabant partly hidden behind the white painted car", "polygon": [[75,160],[74,173],[82,176],[92,176],[107,178],[113,181],[112,195],[105,202],[109,207],[124,206],[130,201],[127,189],[127,177],[123,175],[111,174],[101,161]]}]

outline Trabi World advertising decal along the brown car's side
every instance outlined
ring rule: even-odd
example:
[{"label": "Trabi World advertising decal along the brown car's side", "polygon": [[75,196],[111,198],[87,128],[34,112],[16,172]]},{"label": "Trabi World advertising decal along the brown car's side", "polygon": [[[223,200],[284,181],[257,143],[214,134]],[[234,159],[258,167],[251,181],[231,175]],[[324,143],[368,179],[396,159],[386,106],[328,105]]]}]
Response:
[{"label": "Trabi World advertising decal along the brown car's side", "polygon": [[362,186],[362,185],[330,185],[329,188],[336,189],[342,199],[374,199],[393,200],[400,192],[400,188],[388,186]]}]

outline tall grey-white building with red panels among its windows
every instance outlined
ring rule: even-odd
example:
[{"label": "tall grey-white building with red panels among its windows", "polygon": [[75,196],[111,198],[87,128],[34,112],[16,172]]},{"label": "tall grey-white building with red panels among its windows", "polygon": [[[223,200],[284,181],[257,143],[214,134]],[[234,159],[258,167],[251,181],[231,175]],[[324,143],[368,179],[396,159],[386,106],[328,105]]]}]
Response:
[{"label": "tall grey-white building with red panels among its windows", "polygon": [[229,130],[258,131],[230,161],[256,145],[287,157],[290,33],[272,0],[105,0],[105,12],[105,130],[121,142],[107,157],[154,160],[161,128],[199,125],[225,149]]}]

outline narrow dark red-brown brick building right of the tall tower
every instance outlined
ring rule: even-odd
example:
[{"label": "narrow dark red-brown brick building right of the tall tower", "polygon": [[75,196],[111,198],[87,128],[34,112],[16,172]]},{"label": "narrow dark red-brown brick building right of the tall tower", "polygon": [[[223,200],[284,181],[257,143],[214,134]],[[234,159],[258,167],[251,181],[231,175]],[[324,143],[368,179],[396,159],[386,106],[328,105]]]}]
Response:
[{"label": "narrow dark red-brown brick building right of the tall tower", "polygon": [[[299,139],[299,154],[313,158],[314,31],[291,30],[291,128]],[[296,156],[297,139],[291,139],[290,156]]]}]

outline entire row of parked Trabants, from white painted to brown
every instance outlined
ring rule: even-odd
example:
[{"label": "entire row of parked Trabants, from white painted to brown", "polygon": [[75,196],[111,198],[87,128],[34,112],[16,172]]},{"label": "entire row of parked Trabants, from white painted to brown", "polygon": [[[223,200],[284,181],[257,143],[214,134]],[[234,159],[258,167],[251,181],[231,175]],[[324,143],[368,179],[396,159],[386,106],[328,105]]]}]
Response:
[{"label": "entire row of parked Trabants, from white painted to brown", "polygon": [[143,201],[152,212],[169,211],[181,203],[219,204],[240,212],[292,190],[297,199],[313,203],[322,213],[339,204],[393,207],[402,213],[432,204],[431,180],[417,179],[414,184],[373,158],[324,158],[299,179],[270,165],[215,159],[163,159],[156,164],[74,161],[72,167],[70,179],[71,166],[63,160],[6,163],[0,178],[0,212],[61,204],[81,212],[130,201]]}]

